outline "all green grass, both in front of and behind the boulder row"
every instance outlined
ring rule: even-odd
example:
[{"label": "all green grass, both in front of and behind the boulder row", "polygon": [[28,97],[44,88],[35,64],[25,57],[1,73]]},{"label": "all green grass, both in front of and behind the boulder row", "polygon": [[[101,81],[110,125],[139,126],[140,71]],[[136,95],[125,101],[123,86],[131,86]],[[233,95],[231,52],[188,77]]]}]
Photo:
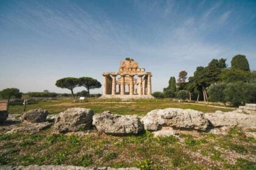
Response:
[{"label": "all green grass, both in front of and behind the boulder row", "polygon": [[[179,107],[202,112],[229,111],[210,106],[176,103],[165,100],[99,100],[71,103],[71,100],[43,101],[29,104],[27,110],[42,108],[57,114],[70,107],[85,107],[95,113],[110,110],[115,114],[145,115],[153,109]],[[23,106],[10,106],[10,114],[21,114]],[[77,165],[110,166],[141,169],[255,169],[255,138],[246,137],[242,129],[230,129],[227,135],[205,132],[180,133],[179,137],[153,137],[145,131],[138,135],[117,137],[89,133],[84,136],[52,134],[49,129],[37,134],[4,134],[0,132],[0,165]],[[255,129],[250,129],[254,132]],[[235,164],[224,157],[224,151],[246,157]],[[199,156],[198,156],[199,155]],[[202,161],[210,160],[208,162]],[[216,166],[218,165],[218,167]]]}]

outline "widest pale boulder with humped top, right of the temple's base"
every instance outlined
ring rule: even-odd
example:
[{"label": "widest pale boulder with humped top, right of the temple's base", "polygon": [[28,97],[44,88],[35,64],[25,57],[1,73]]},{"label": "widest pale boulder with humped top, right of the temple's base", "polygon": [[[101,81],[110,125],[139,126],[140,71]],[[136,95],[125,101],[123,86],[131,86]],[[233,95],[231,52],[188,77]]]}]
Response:
[{"label": "widest pale boulder with humped top, right of the temple's base", "polygon": [[177,108],[151,110],[141,122],[149,131],[158,131],[163,126],[205,131],[208,126],[208,121],[202,112]]}]

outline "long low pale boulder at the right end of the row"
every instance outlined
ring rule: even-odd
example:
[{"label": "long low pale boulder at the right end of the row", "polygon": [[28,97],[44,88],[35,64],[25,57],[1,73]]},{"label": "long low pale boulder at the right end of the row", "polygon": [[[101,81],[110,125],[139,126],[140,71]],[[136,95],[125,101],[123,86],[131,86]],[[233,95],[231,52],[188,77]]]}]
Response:
[{"label": "long low pale boulder at the right end of the row", "polygon": [[215,112],[205,114],[209,125],[213,127],[256,127],[256,116],[241,114],[236,110],[232,112]]}]

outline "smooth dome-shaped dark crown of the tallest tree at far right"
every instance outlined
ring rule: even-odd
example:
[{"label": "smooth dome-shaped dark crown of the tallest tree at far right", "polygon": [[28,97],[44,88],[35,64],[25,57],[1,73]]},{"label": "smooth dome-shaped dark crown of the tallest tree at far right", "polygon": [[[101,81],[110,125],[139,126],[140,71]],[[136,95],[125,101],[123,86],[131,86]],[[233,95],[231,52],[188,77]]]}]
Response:
[{"label": "smooth dome-shaped dark crown of the tallest tree at far right", "polygon": [[248,60],[246,59],[246,56],[245,55],[234,56],[231,61],[231,68],[249,71],[250,66],[249,66]]}]

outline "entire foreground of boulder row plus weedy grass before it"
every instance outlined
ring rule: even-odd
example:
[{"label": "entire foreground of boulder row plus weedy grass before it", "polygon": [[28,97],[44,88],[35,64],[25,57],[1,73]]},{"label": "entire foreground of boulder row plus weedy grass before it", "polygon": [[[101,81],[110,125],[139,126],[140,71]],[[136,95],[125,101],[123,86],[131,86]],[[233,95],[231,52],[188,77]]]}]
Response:
[{"label": "entire foreground of boulder row plus weedy grass before it", "polygon": [[0,165],[23,166],[0,169],[253,169],[255,108],[207,114],[167,108],[144,117],[78,107],[57,115],[43,109],[9,117],[5,112]]}]

